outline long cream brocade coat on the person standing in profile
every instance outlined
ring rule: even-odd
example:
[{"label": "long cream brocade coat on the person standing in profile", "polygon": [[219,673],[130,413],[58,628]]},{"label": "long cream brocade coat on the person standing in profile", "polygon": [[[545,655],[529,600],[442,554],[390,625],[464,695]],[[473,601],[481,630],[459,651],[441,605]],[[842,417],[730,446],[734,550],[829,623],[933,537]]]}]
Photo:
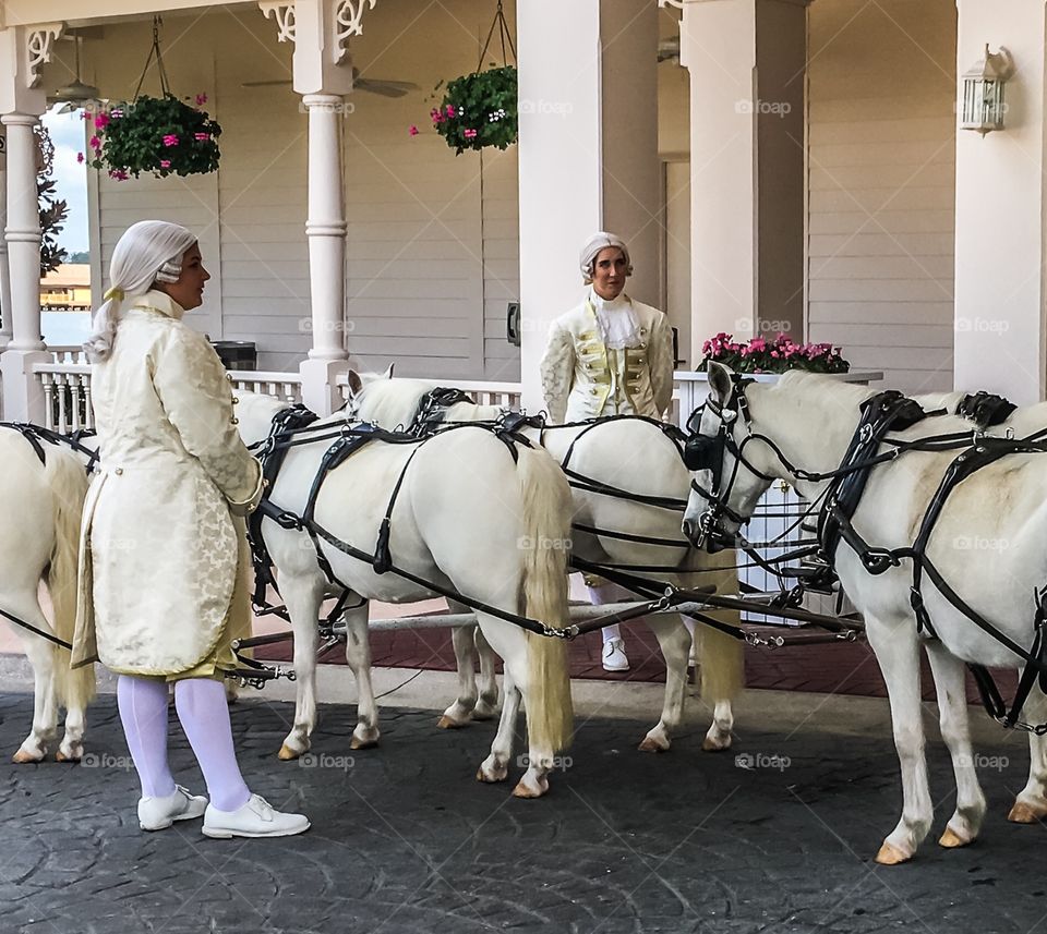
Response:
[{"label": "long cream brocade coat on the person standing in profile", "polygon": [[74,665],[97,652],[115,671],[177,675],[241,616],[231,610],[246,556],[231,510],[254,505],[261,468],[237,433],[221,362],[182,314],[146,293],[92,368],[103,466],[84,505]]}]

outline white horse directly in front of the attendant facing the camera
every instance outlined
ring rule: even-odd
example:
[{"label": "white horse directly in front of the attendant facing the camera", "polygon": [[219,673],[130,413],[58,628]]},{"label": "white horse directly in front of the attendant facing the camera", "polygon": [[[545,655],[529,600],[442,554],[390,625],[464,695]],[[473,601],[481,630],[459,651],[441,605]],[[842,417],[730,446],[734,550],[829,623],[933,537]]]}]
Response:
[{"label": "white horse directly in front of the attendant facing the camera", "polygon": [[[353,397],[350,411],[354,417],[387,428],[408,426],[422,398],[436,384],[421,379],[393,379],[392,371],[381,376],[350,375]],[[494,421],[503,410],[494,405],[457,402],[450,405],[444,421]],[[648,497],[665,497],[681,502],[688,490],[688,474],[676,444],[655,425],[643,419],[622,419],[601,423],[588,430],[585,426],[552,427],[542,433],[526,429],[534,441],[542,444],[568,468],[590,477],[598,484],[616,487]],[[576,444],[577,441],[577,444]],[[727,566],[734,563],[733,553],[710,558],[688,547],[679,536],[679,513],[673,509],[606,496],[576,486],[574,501],[573,554],[593,563],[636,565],[672,568],[672,571],[652,572],[649,577],[683,585],[714,585],[720,593],[737,592],[737,574]],[[610,534],[589,533],[577,526],[624,532],[639,537],[675,541],[677,545],[655,545]],[[636,573],[643,574],[642,571]],[[729,624],[738,624],[733,611],[713,611],[712,616]],[[687,688],[687,662],[690,635],[675,614],[651,615],[646,618],[654,632],[665,657],[665,698],[662,715],[640,742],[645,752],[663,752],[670,748],[673,732],[684,716]],[[734,716],[731,708],[743,680],[742,643],[724,633],[701,627],[702,693],[712,699],[713,721],[702,742],[702,749],[722,750],[731,745]],[[440,725],[465,725],[470,715],[483,718],[492,703],[497,701],[493,659],[482,640],[480,650],[481,690],[479,701],[473,679],[472,632],[456,629],[453,635],[458,662],[459,696],[441,717]],[[473,709],[477,702],[477,709]],[[478,713],[480,716],[477,716]]]}]

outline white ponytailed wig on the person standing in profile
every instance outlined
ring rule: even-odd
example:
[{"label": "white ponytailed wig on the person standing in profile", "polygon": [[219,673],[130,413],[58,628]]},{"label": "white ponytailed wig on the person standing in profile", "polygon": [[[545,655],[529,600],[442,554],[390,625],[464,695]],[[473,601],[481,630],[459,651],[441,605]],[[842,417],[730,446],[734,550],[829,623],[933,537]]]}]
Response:
[{"label": "white ponytailed wig on the person standing in profile", "polygon": [[196,242],[184,227],[166,220],[140,220],[125,231],[112,251],[110,289],[92,319],[84,350],[92,363],[112,352],[120,323],[120,306],[144,295],[157,282],[174,282],[182,271],[182,256]]}]

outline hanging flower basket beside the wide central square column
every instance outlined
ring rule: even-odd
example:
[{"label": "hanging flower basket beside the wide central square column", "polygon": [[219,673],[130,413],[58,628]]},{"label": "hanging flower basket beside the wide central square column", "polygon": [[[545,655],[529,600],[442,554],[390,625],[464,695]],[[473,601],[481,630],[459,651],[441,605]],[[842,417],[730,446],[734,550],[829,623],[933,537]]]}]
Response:
[{"label": "hanging flower basket beside the wide central square column", "polygon": [[455,155],[484,146],[507,148],[517,137],[516,69],[506,65],[456,77],[430,117]]}]

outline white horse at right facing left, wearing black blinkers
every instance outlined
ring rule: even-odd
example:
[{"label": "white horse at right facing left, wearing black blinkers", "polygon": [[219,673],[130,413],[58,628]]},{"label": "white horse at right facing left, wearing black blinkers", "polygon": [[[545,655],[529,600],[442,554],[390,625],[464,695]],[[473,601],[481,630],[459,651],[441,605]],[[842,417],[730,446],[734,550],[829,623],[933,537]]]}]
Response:
[{"label": "white horse at right facing left, wearing black blinkers", "polygon": [[[875,390],[798,373],[786,374],[774,386],[739,388],[733,374],[718,364],[710,366],[709,387],[710,404],[702,413],[699,433],[715,463],[695,474],[696,492],[684,520],[684,531],[693,541],[701,538],[703,527],[733,536],[737,520],[751,515],[770,477],[786,480],[802,496],[817,500],[827,481],[797,477],[794,470],[823,474],[837,469],[858,426],[858,407],[875,395]],[[1009,423],[1033,429],[1047,424],[1044,415],[1044,407],[1032,407],[1015,412]],[[890,437],[905,440],[970,429],[968,421],[943,415]],[[713,440],[718,437],[724,447]],[[958,453],[908,451],[874,468],[852,520],[855,531],[874,547],[910,547],[928,501]],[[971,608],[1026,651],[1033,645],[1035,593],[1047,581],[1044,457],[1010,454],[960,483],[946,501],[926,551],[943,581]],[[719,478],[713,472],[718,468]],[[710,505],[709,495],[720,497],[726,509]],[[997,549],[965,547],[972,541],[1002,544]],[[908,860],[934,818],[920,717],[920,645],[930,660],[941,733],[956,780],[956,808],[939,842],[943,847],[970,844],[978,834],[986,804],[971,749],[964,663],[1019,668],[1023,662],[960,612],[927,574],[920,590],[937,639],[918,632],[910,602],[910,560],[903,558],[899,567],[872,575],[846,544],[837,547],[832,557],[844,590],[865,618],[869,643],[887,682],[901,763],[902,815],[877,861],[894,864]],[[1047,719],[1047,696],[1038,686],[1028,696],[1024,717],[1032,723]],[[1009,815],[1020,823],[1047,816],[1047,739],[1031,733],[1030,744],[1028,783]]]}]

